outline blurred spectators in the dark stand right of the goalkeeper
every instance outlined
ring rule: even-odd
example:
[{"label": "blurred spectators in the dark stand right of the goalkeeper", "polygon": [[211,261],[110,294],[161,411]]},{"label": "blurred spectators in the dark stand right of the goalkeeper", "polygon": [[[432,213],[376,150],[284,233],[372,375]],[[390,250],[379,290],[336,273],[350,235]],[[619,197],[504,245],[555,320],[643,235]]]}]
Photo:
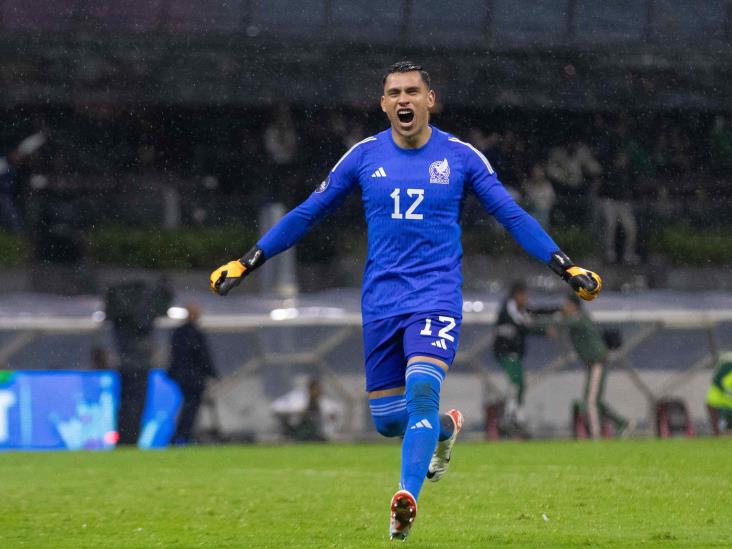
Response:
[{"label": "blurred spectators in the dark stand right of the goalkeeper", "polygon": [[[670,217],[674,199],[677,204],[691,199],[702,208],[707,199],[729,199],[732,115],[714,117],[711,127],[694,122],[595,114],[584,129],[549,147],[535,147],[510,129],[486,133],[473,128],[468,139],[543,225],[594,224],[606,262],[638,263],[641,208],[649,213],[644,206],[650,204],[653,214]],[[622,247],[616,242],[618,228]]]}]

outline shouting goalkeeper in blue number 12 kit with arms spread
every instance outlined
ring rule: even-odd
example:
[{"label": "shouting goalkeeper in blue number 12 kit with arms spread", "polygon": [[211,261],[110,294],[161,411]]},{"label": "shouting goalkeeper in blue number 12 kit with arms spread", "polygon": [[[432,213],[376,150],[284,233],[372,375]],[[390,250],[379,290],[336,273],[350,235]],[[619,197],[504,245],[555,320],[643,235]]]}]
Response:
[{"label": "shouting goalkeeper in blue number 12 kit with arms spread", "polygon": [[298,242],[359,190],[368,225],[361,313],[366,391],[376,430],[403,437],[400,489],[390,506],[391,539],[406,539],[425,479],[447,471],[462,427],[458,410],[440,415],[440,387],[460,339],[460,214],[474,192],[530,255],[583,299],[600,277],[578,267],[509,196],[472,145],[429,124],[435,92],[421,66],[402,61],[383,80],[390,128],[346,152],[310,197],[285,215],[241,259],[211,274],[226,295],[267,259]]}]

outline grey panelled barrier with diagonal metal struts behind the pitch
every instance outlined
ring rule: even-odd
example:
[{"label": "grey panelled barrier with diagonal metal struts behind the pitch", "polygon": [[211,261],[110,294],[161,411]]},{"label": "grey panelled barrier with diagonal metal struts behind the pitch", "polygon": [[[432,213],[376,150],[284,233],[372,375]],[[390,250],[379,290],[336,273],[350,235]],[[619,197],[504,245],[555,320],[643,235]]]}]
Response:
[{"label": "grey panelled barrier with diagonal metal struts behind the pitch", "polygon": [[[632,299],[628,303],[632,302]],[[677,397],[689,405],[698,431],[706,428],[704,397],[720,350],[732,348],[732,309],[630,308],[600,310],[596,321],[619,328],[623,345],[613,351],[608,401],[653,431],[654,403]],[[468,430],[486,428],[486,404],[501,400],[506,381],[491,352],[495,304],[466,301],[461,344],[443,387],[443,405],[460,406]],[[109,345],[102,315],[0,318],[0,363],[10,369],[89,367],[95,345]],[[167,362],[168,330],[179,321],[158,323],[157,366]],[[222,374],[211,387],[210,407],[199,417],[225,436],[247,433],[276,438],[271,402],[316,375],[343,405],[338,436],[373,436],[363,390],[360,315],[328,302],[294,306],[281,302],[269,312],[231,311],[203,318]],[[532,338],[526,358],[527,413],[540,436],[567,436],[569,410],[582,394],[584,369],[565,338]]]}]

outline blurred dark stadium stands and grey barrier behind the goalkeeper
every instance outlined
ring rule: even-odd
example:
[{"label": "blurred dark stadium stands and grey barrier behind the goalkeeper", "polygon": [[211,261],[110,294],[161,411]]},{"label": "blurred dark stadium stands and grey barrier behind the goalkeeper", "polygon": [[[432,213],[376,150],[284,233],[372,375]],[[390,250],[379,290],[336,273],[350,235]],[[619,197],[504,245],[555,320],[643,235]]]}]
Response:
[{"label": "blurred dark stadium stands and grey barrier behind the goalkeeper", "polygon": [[[355,410],[342,434],[369,433],[353,358],[365,248],[357,200],[239,295],[214,299],[207,275],[248,248],[273,215],[269,204],[296,205],[350,143],[384,127],[382,71],[406,57],[432,74],[435,124],[480,137],[519,193],[535,163],[574,142],[606,165],[603,136],[626,127],[624,142],[637,153],[640,262],[605,264],[588,181],[578,190],[555,185],[550,232],[604,276],[608,292],[590,308],[597,318],[619,324],[626,342],[648,336],[627,358],[652,394],[618,368],[608,399],[650,433],[652,400],[681,397],[698,431],[708,430],[710,367],[732,346],[732,4],[366,5],[6,0],[0,154],[40,130],[48,142],[12,190],[21,224],[0,236],[3,366],[90,369],[93,346],[113,350],[95,316],[105,289],[164,275],[177,305],[204,306],[229,381],[216,395],[226,432],[267,438],[276,430],[267,403],[319,372]],[[268,145],[278,131],[285,145]],[[504,388],[486,346],[498,300],[516,273],[541,300],[561,287],[475,202],[464,228],[465,368],[451,375],[445,403],[464,403],[477,434],[483,404]],[[160,323],[160,366],[174,324]],[[321,343],[332,349],[283,356]],[[582,371],[561,360],[561,340],[532,339],[530,349],[530,424],[566,436]]]}]

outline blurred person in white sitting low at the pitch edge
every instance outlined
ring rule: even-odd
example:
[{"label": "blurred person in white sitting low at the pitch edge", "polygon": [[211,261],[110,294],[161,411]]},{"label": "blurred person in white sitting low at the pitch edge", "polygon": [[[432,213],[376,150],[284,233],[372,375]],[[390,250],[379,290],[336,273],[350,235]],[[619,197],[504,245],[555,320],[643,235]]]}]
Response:
[{"label": "blurred person in white sitting low at the pitch edge", "polygon": [[283,434],[292,440],[325,441],[336,433],[343,420],[343,407],[323,395],[318,378],[311,378],[306,387],[281,396],[271,409]]}]

